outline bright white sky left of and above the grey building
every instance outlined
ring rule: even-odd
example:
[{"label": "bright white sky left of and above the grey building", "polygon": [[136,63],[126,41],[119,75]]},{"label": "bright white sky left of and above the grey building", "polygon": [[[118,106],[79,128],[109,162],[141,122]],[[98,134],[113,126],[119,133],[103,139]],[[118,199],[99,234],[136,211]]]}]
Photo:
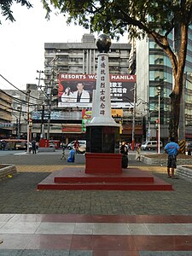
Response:
[{"label": "bright white sky left of and above the grey building", "polygon": [[[44,70],[44,43],[77,43],[81,42],[84,33],[89,33],[82,26],[67,26],[63,15],[53,13],[50,20],[46,20],[41,1],[35,0],[32,4],[32,9],[20,6],[20,3],[12,6],[14,23],[0,16],[2,90],[14,90],[15,87],[25,90],[26,84],[38,84],[37,70]],[[120,42],[125,43],[125,38]]]}]

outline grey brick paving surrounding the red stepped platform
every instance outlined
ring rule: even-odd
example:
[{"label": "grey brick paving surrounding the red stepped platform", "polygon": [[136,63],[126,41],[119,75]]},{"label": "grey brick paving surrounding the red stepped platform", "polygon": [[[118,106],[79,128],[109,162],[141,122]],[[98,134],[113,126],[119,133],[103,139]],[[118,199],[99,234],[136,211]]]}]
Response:
[{"label": "grey brick paving surrounding the red stepped platform", "polygon": [[130,168],[137,166],[172,183],[174,191],[37,191],[37,184],[50,172],[75,166],[60,154],[9,155],[0,163],[17,166],[15,177],[0,181],[1,213],[78,214],[177,214],[192,213],[192,184],[166,177],[166,166],[147,166],[130,155]]}]

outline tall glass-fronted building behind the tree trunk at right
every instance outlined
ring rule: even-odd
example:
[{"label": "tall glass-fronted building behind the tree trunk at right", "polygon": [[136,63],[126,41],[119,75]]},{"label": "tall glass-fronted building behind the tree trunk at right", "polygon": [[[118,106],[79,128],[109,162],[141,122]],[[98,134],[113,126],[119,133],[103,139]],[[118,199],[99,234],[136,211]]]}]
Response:
[{"label": "tall glass-fronted building behind the tree trunk at right", "polygon": [[[175,42],[170,35],[172,48]],[[192,30],[189,29],[186,73],[183,86],[183,100],[179,123],[179,139],[192,138]],[[169,137],[171,117],[170,97],[172,92],[172,65],[168,56],[154,40],[145,38],[137,41],[137,109],[143,112],[146,122],[145,139],[157,137],[157,120],[160,111],[160,139],[165,144]],[[160,93],[160,104],[159,104]]]}]

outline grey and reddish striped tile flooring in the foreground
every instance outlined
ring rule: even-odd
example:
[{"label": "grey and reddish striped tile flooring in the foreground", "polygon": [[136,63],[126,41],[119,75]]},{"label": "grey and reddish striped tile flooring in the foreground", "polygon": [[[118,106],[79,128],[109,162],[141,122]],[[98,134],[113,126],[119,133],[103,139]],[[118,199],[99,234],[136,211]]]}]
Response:
[{"label": "grey and reddish striped tile flooring in the foreground", "polygon": [[0,241],[0,255],[192,255],[192,217],[1,214]]}]

